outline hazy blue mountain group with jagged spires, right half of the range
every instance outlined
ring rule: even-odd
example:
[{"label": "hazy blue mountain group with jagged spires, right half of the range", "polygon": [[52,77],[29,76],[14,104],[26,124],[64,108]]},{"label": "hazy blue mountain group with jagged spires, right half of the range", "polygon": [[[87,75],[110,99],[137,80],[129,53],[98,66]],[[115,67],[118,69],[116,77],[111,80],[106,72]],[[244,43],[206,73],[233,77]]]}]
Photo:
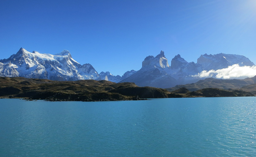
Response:
[{"label": "hazy blue mountain group with jagged spires, right half of the range", "polygon": [[204,70],[224,69],[234,64],[239,64],[239,66],[254,66],[254,63],[244,56],[224,53],[201,55],[197,63],[187,62],[180,55],[176,55],[171,60],[171,66],[169,66],[164,52],[161,51],[156,57],[146,57],[139,71],[120,82],[134,82],[138,86],[168,88],[177,84],[197,82],[201,78],[195,76]]}]

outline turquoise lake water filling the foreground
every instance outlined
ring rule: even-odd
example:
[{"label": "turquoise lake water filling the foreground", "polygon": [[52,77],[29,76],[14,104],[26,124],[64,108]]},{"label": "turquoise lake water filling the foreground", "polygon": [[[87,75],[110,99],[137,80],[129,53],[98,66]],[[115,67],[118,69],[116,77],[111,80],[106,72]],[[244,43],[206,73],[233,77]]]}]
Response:
[{"label": "turquoise lake water filling the foreground", "polygon": [[256,155],[256,97],[0,99],[1,157]]}]

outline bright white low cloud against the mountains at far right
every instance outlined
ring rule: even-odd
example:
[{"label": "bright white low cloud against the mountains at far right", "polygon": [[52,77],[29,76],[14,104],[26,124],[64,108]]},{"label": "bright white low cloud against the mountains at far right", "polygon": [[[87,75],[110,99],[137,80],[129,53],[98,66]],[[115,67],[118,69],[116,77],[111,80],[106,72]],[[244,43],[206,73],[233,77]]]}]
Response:
[{"label": "bright white low cloud against the mountains at far right", "polygon": [[234,64],[228,68],[202,71],[192,77],[208,78],[214,77],[217,79],[245,79],[247,77],[254,77],[256,75],[256,66],[239,66]]}]

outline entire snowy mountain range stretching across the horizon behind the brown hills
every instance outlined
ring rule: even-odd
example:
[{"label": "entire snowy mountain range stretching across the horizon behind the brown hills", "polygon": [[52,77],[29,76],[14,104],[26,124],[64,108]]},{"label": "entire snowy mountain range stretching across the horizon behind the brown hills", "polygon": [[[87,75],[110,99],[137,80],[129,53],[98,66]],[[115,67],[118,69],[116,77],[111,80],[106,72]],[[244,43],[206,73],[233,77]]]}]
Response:
[{"label": "entire snowy mountain range stretching across the horizon behind the brown hills", "polygon": [[37,51],[28,52],[23,48],[7,59],[0,60],[1,77],[26,77],[49,80],[109,80],[111,82],[134,82],[137,86],[171,88],[178,84],[189,84],[201,80],[197,77],[202,71],[239,66],[254,66],[254,63],[242,55],[219,53],[201,55],[195,62],[187,62],[176,55],[168,63],[164,52],[156,57],[148,56],[138,71],[127,71],[121,76],[110,72],[98,73],[91,64],[76,62],[69,51],[64,50],[55,55],[42,54]]}]

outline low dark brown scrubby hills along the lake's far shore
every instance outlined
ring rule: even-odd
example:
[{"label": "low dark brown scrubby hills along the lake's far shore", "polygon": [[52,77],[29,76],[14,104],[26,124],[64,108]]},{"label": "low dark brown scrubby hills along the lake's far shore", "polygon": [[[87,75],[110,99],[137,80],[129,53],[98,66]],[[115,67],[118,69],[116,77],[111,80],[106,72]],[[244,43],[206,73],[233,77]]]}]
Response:
[{"label": "low dark brown scrubby hills along the lake's far shore", "polygon": [[24,98],[50,101],[114,101],[145,100],[147,98],[181,97],[243,97],[252,93],[208,88],[189,91],[180,88],[173,92],[153,87],[138,87],[131,82],[113,83],[106,80],[52,81],[22,77],[0,77],[1,98]]}]

